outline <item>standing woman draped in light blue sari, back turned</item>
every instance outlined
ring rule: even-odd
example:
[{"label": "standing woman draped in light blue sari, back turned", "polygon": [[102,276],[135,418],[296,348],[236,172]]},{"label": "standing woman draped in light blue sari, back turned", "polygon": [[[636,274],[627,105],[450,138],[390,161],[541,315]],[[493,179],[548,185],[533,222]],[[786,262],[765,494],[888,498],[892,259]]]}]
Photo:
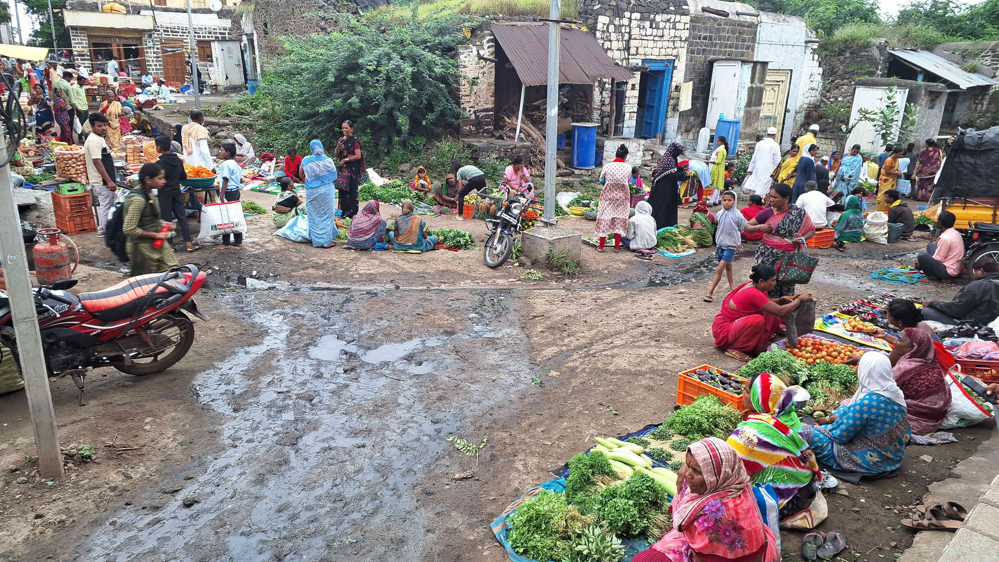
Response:
[{"label": "standing woman draped in light blue sari, back turned", "polygon": [[316,248],[333,248],[337,243],[337,225],[334,212],[337,200],[333,182],[337,179],[337,165],[326,156],[323,143],[318,139],[309,144],[312,156],[302,159],[306,178],[306,214],[309,216],[309,238]]}]

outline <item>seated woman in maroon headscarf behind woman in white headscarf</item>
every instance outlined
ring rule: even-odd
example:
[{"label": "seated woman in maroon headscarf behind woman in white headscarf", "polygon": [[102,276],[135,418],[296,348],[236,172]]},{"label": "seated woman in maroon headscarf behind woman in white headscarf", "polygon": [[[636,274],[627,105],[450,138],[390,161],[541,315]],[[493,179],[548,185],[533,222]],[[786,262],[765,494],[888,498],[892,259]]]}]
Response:
[{"label": "seated woman in maroon headscarf behind woman in white headscarf", "polygon": [[950,386],[937,362],[933,338],[918,327],[899,334],[888,355],[895,383],[905,395],[909,425],[916,435],[929,435],[940,429],[950,409]]}]

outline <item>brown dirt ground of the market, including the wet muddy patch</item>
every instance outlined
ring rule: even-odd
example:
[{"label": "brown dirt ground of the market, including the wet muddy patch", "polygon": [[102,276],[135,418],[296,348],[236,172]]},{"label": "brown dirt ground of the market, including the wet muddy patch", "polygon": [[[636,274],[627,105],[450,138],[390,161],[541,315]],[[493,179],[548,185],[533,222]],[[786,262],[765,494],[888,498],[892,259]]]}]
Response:
[{"label": "brown dirt ground of the market, including the wet muddy patch", "polygon": [[[45,213],[25,218],[47,226]],[[52,383],[63,446],[93,446],[96,460],[40,481],[24,394],[0,396],[0,560],[503,560],[489,524],[509,502],[593,436],[665,418],[676,372],[737,367],[712,345],[721,299],[700,300],[713,249],[647,263],[583,247],[578,279],[535,266],[548,281],[526,281],[522,267],[487,269],[481,251],[314,249],[275,237],[267,216],[249,224],[243,249],[179,256],[211,272],[196,297],[210,320],[196,320],[185,359],[143,377],[95,370],[85,406],[71,381]],[[428,224],[485,233],[478,221]],[[592,232],[582,219],[560,226]],[[75,240],[74,290],[123,279],[101,240]],[[951,297],[957,286],[869,279],[923,246],[815,251],[803,289],[824,311],[886,290]],[[898,512],[990,437],[956,434],[910,447],[897,478],[828,496],[820,529],[846,533],[856,554],[844,560],[911,544]],[[486,441],[469,456],[449,436]],[[800,533],[782,535],[785,560],[800,559]]]}]

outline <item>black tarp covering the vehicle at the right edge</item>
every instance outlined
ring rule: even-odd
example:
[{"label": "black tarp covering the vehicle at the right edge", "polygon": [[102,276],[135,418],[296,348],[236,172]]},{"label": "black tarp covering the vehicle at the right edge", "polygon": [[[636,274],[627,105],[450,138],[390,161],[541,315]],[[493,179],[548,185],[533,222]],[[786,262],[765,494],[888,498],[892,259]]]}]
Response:
[{"label": "black tarp covering the vehicle at the right edge", "polygon": [[999,127],[957,135],[940,171],[930,205],[943,198],[994,197],[999,177]]}]

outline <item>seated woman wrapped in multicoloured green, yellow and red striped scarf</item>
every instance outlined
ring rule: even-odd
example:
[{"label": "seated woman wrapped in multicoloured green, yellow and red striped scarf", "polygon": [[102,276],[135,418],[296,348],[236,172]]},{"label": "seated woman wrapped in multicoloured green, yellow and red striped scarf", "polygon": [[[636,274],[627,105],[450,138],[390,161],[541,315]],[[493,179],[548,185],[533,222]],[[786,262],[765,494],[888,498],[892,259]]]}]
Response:
[{"label": "seated woman wrapped in multicoloured green, yellow and red striped scarf", "polygon": [[749,415],[735,427],[728,444],[742,457],[749,481],[772,486],[781,508],[801,495],[801,501],[788,508],[797,513],[815,498],[809,484],[821,476],[815,454],[798,435],[801,421],[792,404],[794,396],[768,372],[750,377],[746,387],[742,401]]}]

